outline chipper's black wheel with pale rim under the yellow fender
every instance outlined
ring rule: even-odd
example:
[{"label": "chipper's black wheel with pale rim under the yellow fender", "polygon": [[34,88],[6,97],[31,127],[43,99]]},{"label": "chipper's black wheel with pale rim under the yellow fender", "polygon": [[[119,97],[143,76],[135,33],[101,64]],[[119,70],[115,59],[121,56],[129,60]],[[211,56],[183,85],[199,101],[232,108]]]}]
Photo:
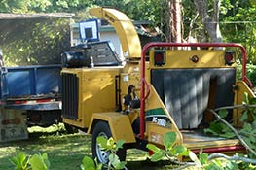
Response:
[{"label": "chipper's black wheel with pale rim under the yellow fender", "polygon": [[[110,151],[106,151],[106,150],[103,150],[102,148],[100,148],[100,146],[96,142],[96,139],[98,136],[104,136],[106,139],[109,139],[110,137],[112,137],[110,127],[107,122],[99,121],[96,123],[96,125],[92,131],[92,143],[91,143],[93,158],[96,157],[100,163],[107,164]],[[127,150],[120,149],[117,152],[117,155],[119,156],[119,159],[121,161],[125,161],[126,155],[127,155]]]}]

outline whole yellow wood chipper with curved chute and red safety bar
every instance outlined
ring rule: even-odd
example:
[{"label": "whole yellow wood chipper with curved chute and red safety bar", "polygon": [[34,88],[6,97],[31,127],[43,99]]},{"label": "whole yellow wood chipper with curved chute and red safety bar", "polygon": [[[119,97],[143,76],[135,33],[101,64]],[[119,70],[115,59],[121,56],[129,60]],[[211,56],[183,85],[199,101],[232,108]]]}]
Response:
[{"label": "whole yellow wood chipper with curved chute and red safety bar", "polygon": [[[238,139],[203,133],[214,119],[207,109],[242,104],[244,92],[254,96],[241,45],[150,43],[141,51],[136,30],[125,14],[108,8],[94,8],[90,13],[113,25],[126,57],[122,65],[108,42],[88,42],[64,55],[63,122],[92,135],[94,157],[108,161],[109,153],[96,143],[98,136],[125,140],[118,152],[124,160],[127,149],[147,151],[148,143],[163,146],[169,131],[176,132],[176,144],[195,153],[201,148],[205,153],[244,150]],[[236,54],[242,55],[240,81]],[[229,110],[227,120],[239,126],[240,115],[239,110]]]}]

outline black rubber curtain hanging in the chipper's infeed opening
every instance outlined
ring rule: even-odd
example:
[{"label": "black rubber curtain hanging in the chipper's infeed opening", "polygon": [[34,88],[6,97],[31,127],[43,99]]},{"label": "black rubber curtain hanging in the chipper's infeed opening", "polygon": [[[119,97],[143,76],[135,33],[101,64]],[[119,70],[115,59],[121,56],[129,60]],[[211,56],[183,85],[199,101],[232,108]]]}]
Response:
[{"label": "black rubber curtain hanging in the chipper's infeed opening", "polygon": [[231,106],[234,103],[234,68],[152,70],[151,81],[180,129],[199,126],[208,106],[213,82],[213,107]]}]

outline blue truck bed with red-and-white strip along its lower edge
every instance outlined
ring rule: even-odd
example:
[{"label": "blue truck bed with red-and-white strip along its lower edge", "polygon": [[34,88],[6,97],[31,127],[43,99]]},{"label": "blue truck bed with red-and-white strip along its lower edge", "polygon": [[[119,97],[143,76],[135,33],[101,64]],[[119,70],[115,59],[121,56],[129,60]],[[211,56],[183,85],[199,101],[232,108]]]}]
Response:
[{"label": "blue truck bed with red-and-white strip along its lower edge", "polygon": [[5,67],[0,70],[0,100],[6,108],[61,109],[61,65]]}]

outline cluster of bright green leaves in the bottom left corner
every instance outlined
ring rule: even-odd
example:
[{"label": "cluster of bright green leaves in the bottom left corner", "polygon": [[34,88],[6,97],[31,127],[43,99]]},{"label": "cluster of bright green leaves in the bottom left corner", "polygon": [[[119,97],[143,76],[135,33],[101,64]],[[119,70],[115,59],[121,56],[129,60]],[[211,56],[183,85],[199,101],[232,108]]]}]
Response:
[{"label": "cluster of bright green leaves in the bottom left corner", "polygon": [[10,161],[14,164],[15,170],[48,170],[50,168],[47,153],[27,156],[19,152],[16,156],[11,157]]}]

